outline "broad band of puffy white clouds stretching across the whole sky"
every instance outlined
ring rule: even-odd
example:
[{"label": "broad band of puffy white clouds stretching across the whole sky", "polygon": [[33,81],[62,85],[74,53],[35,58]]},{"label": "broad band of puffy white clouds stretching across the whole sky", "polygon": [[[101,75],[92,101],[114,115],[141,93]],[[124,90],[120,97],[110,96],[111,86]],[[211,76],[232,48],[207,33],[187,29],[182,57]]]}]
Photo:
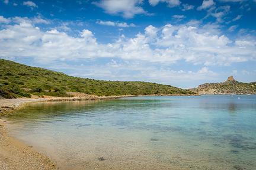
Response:
[{"label": "broad band of puffy white clouds stretching across the whole sky", "polygon": [[121,35],[114,42],[101,44],[87,29],[75,37],[55,29],[43,31],[27,19],[18,21],[0,30],[0,57],[31,57],[44,62],[110,57],[152,63],[185,61],[204,66],[256,60],[255,37],[231,40],[196,24],[159,28],[149,25],[135,37]]}]

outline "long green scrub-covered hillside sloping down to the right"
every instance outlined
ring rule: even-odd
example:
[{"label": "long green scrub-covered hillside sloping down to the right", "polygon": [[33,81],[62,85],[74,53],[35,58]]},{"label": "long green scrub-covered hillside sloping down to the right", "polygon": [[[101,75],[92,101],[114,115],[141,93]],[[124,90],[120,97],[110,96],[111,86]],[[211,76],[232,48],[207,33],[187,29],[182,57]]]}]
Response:
[{"label": "long green scrub-covered hillside sloping down to the right", "polygon": [[0,99],[30,97],[30,94],[68,96],[67,92],[71,91],[97,96],[195,94],[190,90],[157,83],[83,79],[0,59]]}]

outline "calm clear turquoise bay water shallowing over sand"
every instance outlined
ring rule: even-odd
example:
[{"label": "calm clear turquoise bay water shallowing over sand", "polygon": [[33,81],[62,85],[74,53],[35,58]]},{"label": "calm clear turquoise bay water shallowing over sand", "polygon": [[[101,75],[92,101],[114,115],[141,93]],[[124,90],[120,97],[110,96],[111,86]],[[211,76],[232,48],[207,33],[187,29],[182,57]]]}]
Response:
[{"label": "calm clear turquoise bay water shallowing over sand", "polygon": [[61,169],[256,169],[255,95],[34,103],[8,119]]}]

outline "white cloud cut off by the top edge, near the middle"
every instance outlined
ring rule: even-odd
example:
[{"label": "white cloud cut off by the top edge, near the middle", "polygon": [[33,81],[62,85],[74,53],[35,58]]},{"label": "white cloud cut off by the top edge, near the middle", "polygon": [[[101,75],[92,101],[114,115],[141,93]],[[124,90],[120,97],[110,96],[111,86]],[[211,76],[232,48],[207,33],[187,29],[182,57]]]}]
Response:
[{"label": "white cloud cut off by the top edge, near the middle", "polygon": [[133,18],[133,16],[137,14],[147,14],[147,12],[139,6],[142,4],[142,0],[101,0],[100,2],[92,3],[103,8],[107,14],[120,14],[124,18]]}]

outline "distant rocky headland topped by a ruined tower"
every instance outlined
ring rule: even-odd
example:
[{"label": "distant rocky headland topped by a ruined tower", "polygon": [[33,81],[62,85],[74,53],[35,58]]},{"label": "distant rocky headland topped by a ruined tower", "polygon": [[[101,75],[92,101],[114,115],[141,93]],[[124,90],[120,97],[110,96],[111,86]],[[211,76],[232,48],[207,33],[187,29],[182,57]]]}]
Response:
[{"label": "distant rocky headland topped by a ruined tower", "polygon": [[256,94],[256,82],[242,83],[230,76],[222,83],[205,83],[189,90],[199,94]]}]

